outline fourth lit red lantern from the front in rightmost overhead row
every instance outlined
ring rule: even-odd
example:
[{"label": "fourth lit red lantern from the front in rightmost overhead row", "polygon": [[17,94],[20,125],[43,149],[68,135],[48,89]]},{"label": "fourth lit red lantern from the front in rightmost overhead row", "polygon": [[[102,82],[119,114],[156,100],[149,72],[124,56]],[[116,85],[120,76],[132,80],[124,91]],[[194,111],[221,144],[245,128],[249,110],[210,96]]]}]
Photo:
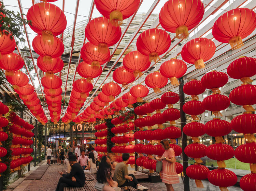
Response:
[{"label": "fourth lit red lantern from the front in rightmost overhead row", "polygon": [[163,76],[159,72],[153,72],[151,74],[148,74],[145,78],[145,84],[153,88],[155,93],[160,93],[163,86],[165,86],[168,82],[167,77]]}]

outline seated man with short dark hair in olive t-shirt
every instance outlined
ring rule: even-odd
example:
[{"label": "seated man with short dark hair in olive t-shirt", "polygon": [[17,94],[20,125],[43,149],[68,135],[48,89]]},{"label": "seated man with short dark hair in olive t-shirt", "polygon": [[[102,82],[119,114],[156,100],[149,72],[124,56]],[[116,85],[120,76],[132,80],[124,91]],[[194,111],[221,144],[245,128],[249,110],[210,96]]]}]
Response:
[{"label": "seated man with short dark hair in olive t-shirt", "polygon": [[138,190],[148,190],[148,188],[139,184],[138,180],[133,174],[128,174],[128,168],[126,164],[129,162],[129,157],[129,153],[123,153],[123,161],[116,164],[114,180],[117,181],[118,186],[121,187],[132,186],[133,188]]}]

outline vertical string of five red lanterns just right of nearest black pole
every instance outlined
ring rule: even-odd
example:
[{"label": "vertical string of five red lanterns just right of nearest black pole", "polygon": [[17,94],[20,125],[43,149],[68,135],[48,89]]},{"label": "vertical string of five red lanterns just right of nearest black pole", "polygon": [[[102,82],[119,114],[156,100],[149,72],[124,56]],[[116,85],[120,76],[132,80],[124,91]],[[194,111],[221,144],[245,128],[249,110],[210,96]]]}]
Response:
[{"label": "vertical string of five red lanterns just right of nearest black pole", "polygon": [[205,150],[207,146],[201,144],[198,138],[204,135],[205,132],[204,125],[198,122],[199,118],[197,115],[200,115],[205,111],[202,102],[198,101],[198,94],[203,93],[205,88],[202,86],[201,81],[194,79],[184,84],[183,91],[192,97],[191,101],[188,101],[183,105],[183,111],[186,114],[191,115],[193,119],[191,123],[187,123],[183,127],[183,133],[190,136],[193,140],[192,144],[185,147],[185,154],[189,157],[193,157],[196,161],[195,164],[186,169],[186,174],[190,178],[195,179],[197,188],[203,188],[201,180],[206,179],[210,171],[207,167],[200,164],[203,162],[200,158],[206,155]]}]

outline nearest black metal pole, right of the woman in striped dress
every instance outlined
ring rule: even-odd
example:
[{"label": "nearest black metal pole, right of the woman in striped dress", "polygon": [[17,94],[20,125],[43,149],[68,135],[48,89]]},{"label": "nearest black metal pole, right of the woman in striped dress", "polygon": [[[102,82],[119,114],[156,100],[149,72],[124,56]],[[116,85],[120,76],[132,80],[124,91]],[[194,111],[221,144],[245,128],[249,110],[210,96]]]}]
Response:
[{"label": "nearest black metal pole, right of the woman in striped dress", "polygon": [[183,79],[180,80],[179,94],[180,94],[180,112],[181,112],[181,139],[182,139],[182,160],[183,160],[183,178],[184,178],[184,191],[189,191],[189,177],[186,175],[186,168],[188,167],[188,157],[184,150],[187,146],[187,135],[183,133],[183,127],[186,125],[186,114],[184,113],[182,107],[185,103],[185,95],[183,92],[184,82]]}]

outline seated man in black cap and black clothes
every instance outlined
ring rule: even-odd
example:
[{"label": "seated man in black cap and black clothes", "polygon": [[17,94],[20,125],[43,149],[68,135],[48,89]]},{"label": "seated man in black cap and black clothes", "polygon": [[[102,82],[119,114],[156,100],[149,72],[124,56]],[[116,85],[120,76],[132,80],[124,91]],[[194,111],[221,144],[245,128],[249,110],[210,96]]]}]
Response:
[{"label": "seated man in black cap and black clothes", "polygon": [[62,176],[59,179],[56,191],[63,191],[64,187],[83,187],[85,183],[85,174],[81,165],[76,161],[75,155],[69,155],[69,164],[71,171],[69,174],[59,172]]}]

